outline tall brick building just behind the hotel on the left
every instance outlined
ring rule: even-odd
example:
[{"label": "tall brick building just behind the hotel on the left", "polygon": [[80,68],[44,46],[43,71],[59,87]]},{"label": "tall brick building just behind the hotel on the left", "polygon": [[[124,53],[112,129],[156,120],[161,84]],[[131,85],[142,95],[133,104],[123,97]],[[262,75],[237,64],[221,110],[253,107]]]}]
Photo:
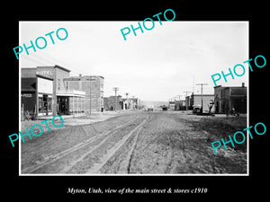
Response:
[{"label": "tall brick building just behind the hotel on the left", "polygon": [[[103,108],[103,76],[79,75],[64,79],[67,90],[85,92],[85,111],[101,111]],[[90,99],[91,97],[91,99]]]}]

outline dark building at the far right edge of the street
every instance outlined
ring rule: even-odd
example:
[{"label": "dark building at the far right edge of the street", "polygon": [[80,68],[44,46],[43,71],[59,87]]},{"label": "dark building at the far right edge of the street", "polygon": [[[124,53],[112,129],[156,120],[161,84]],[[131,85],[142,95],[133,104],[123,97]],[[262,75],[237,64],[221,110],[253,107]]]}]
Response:
[{"label": "dark building at the far right edge of the street", "polygon": [[238,113],[247,113],[247,87],[221,86],[214,87],[215,113],[229,113],[234,109]]}]

